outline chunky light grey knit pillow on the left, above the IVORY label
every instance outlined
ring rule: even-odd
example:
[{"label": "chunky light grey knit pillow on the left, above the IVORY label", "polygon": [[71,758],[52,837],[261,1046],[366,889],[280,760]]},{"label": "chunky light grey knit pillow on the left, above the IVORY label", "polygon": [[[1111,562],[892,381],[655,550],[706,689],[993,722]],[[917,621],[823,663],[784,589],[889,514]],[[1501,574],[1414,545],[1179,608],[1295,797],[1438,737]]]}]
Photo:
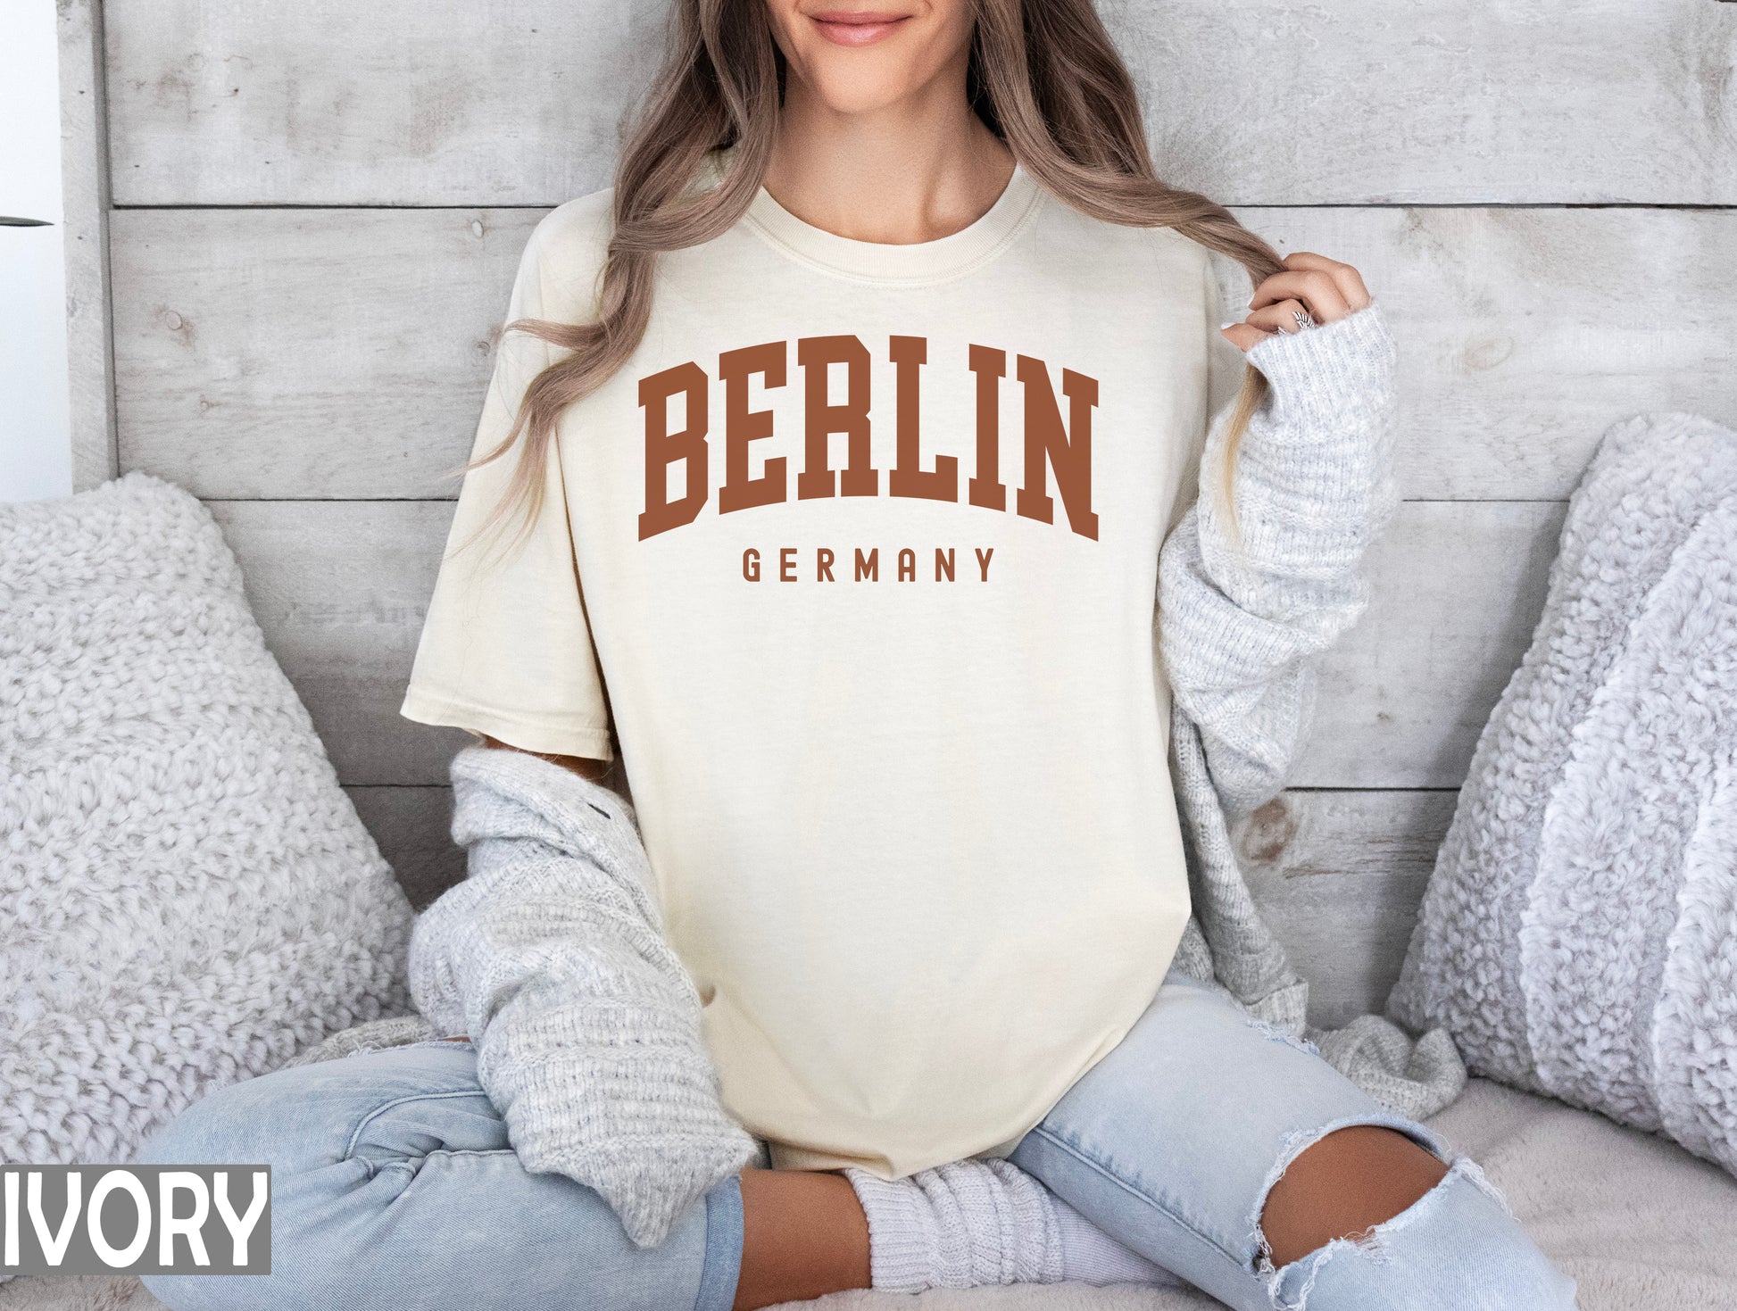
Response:
[{"label": "chunky light grey knit pillow on the left, above the IVORY label", "polygon": [[205,507],[0,505],[0,1163],[130,1160],[406,1011],[410,919]]}]

